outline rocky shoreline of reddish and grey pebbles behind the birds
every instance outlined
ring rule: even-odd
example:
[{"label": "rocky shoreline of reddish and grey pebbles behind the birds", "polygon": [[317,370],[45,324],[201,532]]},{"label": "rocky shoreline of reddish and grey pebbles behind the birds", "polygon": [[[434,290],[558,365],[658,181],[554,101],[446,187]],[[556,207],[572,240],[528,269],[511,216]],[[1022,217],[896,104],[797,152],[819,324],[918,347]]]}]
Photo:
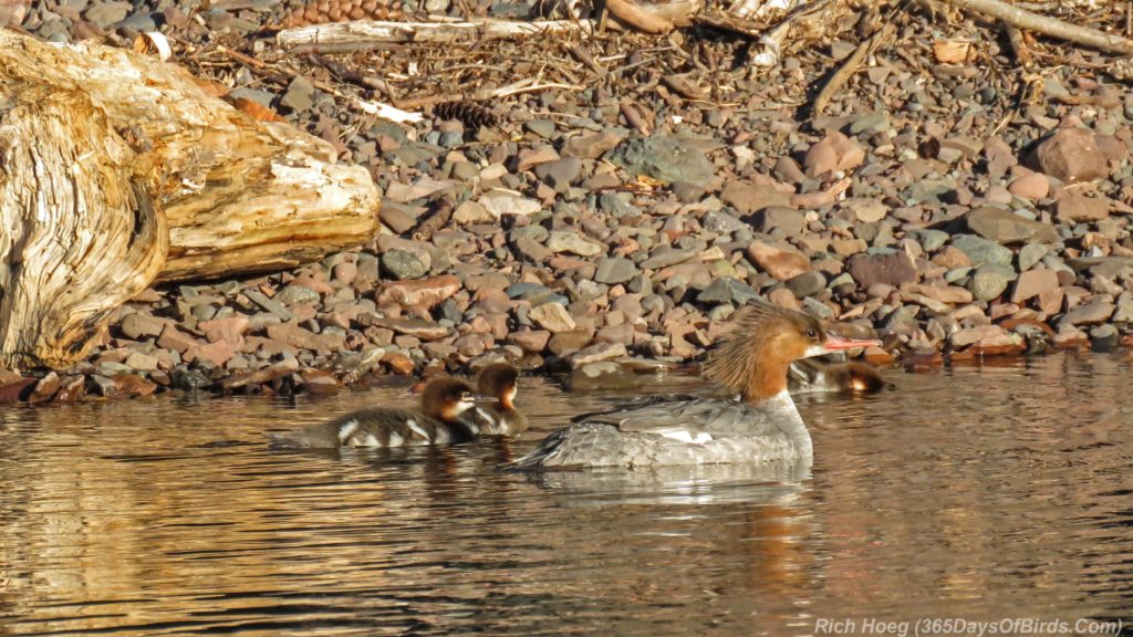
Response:
[{"label": "rocky shoreline of reddish and grey pebbles behind the birds", "polygon": [[[758,74],[725,63],[746,42],[714,33],[521,42],[484,54],[516,75],[539,56],[570,62],[581,90],[476,107],[491,126],[461,109],[397,125],[320,90],[338,80],[325,65],[253,43],[295,5],[223,7],[44,5],[24,27],[125,39],[148,19],[283,65],[262,82],[238,60],[185,62],[370,167],[383,232],[291,272],[146,290],[88,360],[0,371],[0,402],[326,393],[497,360],[632,375],[698,359],[757,297],[877,336],[866,356],[880,364],[1133,345],[1133,94],[1104,54],[1048,43],[1062,66],[1036,80],[987,25],[903,14],[836,114],[810,116],[799,107],[853,50],[852,23]],[[939,63],[932,43],[949,39],[977,53]],[[381,75],[435,56],[340,63]],[[712,99],[682,97],[673,77]]]}]

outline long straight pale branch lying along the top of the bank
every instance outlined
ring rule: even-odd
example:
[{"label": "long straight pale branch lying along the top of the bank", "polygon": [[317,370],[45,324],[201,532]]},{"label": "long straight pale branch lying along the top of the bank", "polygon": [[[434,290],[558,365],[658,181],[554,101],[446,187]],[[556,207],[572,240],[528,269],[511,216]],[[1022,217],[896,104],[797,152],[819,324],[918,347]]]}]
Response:
[{"label": "long straight pale branch lying along the top of the bank", "polygon": [[357,20],[334,23],[279,32],[275,41],[283,48],[305,44],[322,46],[349,45],[351,50],[397,42],[452,42],[467,40],[502,40],[551,35],[594,29],[593,20],[487,20],[483,23],[390,23]]}]

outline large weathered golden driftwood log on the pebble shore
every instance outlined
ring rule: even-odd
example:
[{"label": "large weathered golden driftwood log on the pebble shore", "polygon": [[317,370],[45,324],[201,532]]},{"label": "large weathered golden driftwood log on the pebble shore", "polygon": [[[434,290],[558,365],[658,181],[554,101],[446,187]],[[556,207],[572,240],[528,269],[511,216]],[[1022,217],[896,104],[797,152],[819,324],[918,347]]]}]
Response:
[{"label": "large weathered golden driftwood log on the pebble shore", "polygon": [[365,243],[377,209],[365,169],[179,67],[0,29],[0,367],[80,359],[155,280]]}]

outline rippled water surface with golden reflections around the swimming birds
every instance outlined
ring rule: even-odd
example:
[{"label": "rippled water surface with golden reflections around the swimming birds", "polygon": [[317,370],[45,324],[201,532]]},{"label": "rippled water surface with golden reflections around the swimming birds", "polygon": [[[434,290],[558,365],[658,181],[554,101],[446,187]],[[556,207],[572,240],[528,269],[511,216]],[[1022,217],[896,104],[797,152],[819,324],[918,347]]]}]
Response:
[{"label": "rippled water surface with golden reflections around the swimming birds", "polygon": [[[0,632],[808,635],[857,618],[1133,615],[1127,355],[886,372],[798,400],[812,474],[497,466],[616,400],[527,381],[534,432],[269,450],[404,389],[0,410]],[[688,390],[670,379],[650,390]]]}]

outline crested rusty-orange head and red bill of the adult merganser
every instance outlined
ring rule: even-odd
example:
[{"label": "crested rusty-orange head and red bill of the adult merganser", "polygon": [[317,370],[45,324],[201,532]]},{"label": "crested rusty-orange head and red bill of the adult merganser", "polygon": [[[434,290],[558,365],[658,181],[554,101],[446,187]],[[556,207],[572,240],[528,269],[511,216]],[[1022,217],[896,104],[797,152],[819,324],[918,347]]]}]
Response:
[{"label": "crested rusty-orange head and red bill of the adult merganser", "polygon": [[758,402],[786,392],[792,362],[870,345],[880,342],[842,338],[809,314],[757,301],[740,311],[732,331],[705,363],[704,375]]}]

